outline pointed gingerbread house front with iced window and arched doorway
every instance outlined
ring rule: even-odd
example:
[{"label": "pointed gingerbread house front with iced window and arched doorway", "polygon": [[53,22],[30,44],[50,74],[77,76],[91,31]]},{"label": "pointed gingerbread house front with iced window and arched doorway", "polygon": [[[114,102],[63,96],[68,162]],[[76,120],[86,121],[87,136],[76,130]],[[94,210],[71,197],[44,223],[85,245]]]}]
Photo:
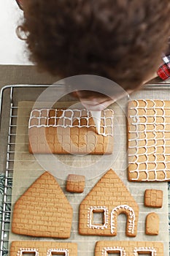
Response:
[{"label": "pointed gingerbread house front with iced window and arched doorway", "polygon": [[126,236],[136,236],[139,206],[123,181],[110,169],[80,204],[79,232],[116,236],[119,214],[127,216]]}]

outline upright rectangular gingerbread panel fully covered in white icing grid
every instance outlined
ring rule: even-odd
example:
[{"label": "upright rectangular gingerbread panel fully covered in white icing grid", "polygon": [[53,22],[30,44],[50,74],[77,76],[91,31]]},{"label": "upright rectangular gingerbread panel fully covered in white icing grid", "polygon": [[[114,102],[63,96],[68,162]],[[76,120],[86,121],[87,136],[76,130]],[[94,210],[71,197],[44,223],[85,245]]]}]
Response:
[{"label": "upright rectangular gingerbread panel fully covered in white icing grid", "polygon": [[170,101],[129,102],[128,179],[170,180]]}]

